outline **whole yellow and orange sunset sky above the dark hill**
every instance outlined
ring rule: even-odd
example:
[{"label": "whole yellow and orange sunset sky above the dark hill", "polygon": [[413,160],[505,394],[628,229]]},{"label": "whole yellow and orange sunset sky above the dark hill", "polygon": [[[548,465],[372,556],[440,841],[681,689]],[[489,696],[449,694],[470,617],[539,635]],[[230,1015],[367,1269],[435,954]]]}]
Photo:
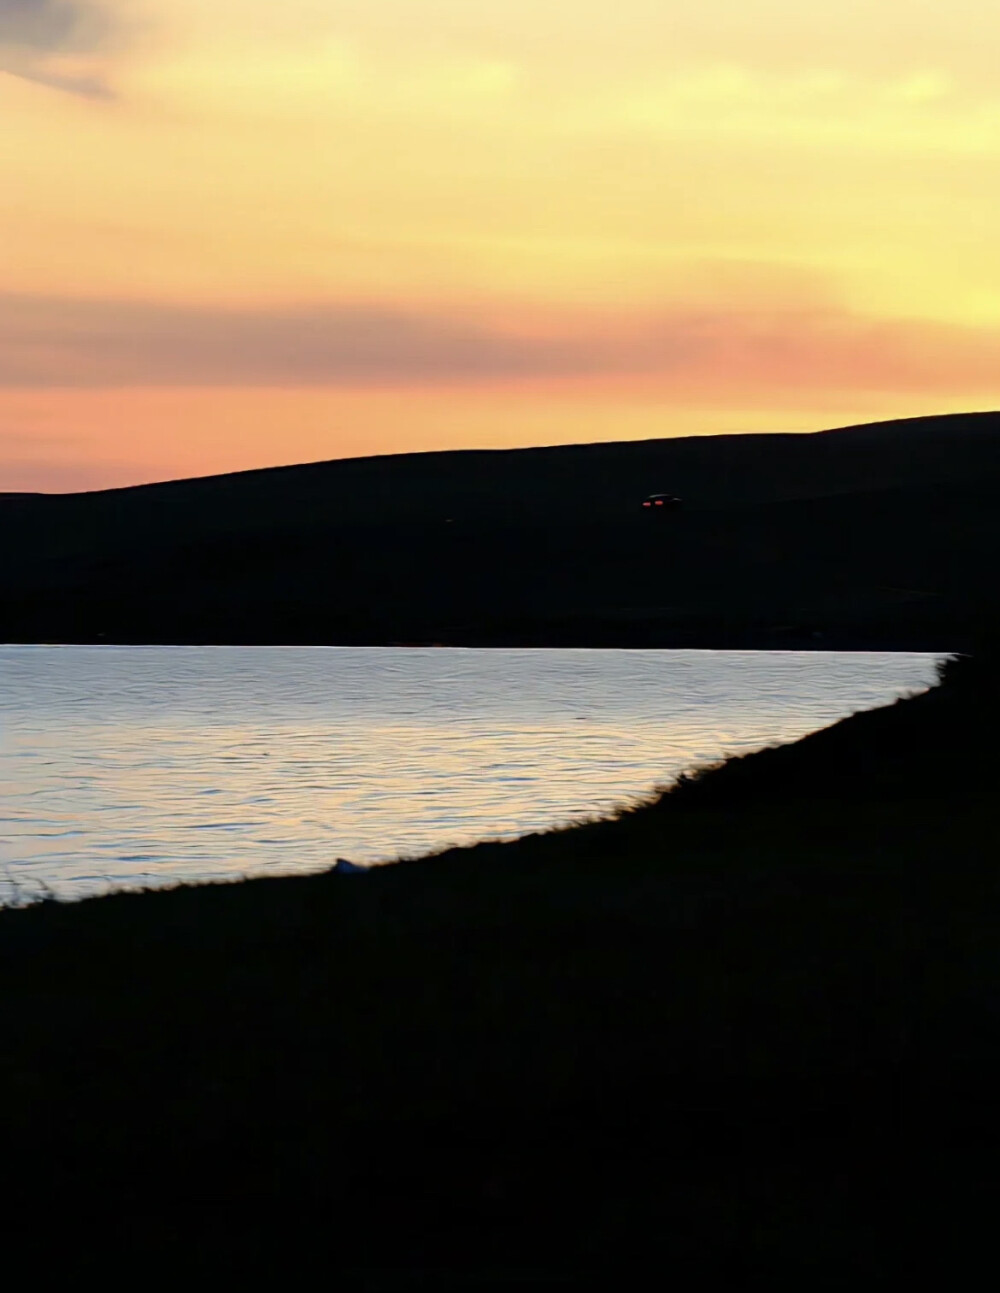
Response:
[{"label": "whole yellow and orange sunset sky above the dark hill", "polygon": [[1000,405],[996,0],[0,0],[0,490]]}]

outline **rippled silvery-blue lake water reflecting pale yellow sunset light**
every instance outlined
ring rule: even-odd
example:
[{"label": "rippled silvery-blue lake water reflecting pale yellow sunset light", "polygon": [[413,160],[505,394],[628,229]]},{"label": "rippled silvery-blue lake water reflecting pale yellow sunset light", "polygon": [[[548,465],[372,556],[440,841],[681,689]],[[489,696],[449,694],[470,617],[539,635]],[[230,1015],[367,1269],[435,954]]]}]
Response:
[{"label": "rippled silvery-blue lake water reflecting pale yellow sunset light", "polygon": [[0,900],[376,862],[605,811],[926,654],[0,648]]}]

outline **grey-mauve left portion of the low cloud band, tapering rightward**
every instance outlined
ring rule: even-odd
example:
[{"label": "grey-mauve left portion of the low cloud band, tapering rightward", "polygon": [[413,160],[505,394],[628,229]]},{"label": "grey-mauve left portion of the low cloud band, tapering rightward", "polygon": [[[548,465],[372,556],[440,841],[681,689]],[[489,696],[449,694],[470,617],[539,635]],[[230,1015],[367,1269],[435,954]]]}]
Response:
[{"label": "grey-mauve left portion of the low cloud band, tapering rightward", "polygon": [[0,294],[0,385],[392,385],[573,375],[586,343],[444,312],[219,309]]}]

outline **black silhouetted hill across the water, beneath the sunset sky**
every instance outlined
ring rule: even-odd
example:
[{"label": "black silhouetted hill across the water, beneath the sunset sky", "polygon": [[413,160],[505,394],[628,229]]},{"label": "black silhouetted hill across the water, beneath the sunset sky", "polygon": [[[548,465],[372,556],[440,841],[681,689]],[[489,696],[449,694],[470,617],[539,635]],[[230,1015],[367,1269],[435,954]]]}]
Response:
[{"label": "black silhouetted hill across the water, beneath the sunset sky", "polygon": [[[6,497],[0,637],[950,648],[999,489],[970,414]],[[684,509],[653,524],[655,490]]]}]

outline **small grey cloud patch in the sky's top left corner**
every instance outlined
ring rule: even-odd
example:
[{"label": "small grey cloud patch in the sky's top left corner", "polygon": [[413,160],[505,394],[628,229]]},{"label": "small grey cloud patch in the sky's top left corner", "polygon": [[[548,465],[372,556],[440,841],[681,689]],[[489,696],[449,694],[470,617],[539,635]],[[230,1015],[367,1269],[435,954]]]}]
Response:
[{"label": "small grey cloud patch in the sky's top left corner", "polygon": [[52,89],[107,98],[93,66],[115,23],[100,0],[0,0],[0,71]]}]

